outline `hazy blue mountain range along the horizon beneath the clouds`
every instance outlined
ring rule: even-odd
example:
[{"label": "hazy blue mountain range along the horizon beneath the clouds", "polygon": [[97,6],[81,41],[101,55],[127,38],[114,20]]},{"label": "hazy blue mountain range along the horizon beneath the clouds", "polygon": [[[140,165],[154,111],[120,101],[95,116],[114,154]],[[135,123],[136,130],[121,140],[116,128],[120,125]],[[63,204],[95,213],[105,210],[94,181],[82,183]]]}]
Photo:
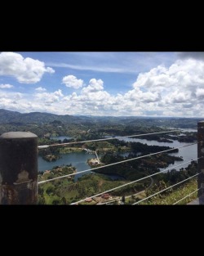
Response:
[{"label": "hazy blue mountain range along the horizon beneath the clouds", "polygon": [[150,117],[150,116],[86,116],[86,115],[55,115],[51,113],[31,112],[20,113],[0,109],[0,124],[78,124],[91,127],[95,124],[104,125],[142,125],[174,128],[195,128],[199,118]]}]

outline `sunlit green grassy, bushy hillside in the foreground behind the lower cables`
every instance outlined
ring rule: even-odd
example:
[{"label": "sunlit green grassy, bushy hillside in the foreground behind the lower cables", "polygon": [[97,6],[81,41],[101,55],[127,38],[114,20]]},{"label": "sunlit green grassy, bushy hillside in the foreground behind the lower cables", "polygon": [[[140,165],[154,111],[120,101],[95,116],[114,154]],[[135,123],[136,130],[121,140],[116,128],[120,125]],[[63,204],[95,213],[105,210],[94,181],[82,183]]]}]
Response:
[{"label": "sunlit green grassy, bushy hillside in the foreground behind the lower cables", "polygon": [[[56,166],[51,172],[39,175],[39,181],[60,177],[69,173],[73,173],[75,168],[69,166]],[[143,181],[132,183],[128,186],[123,186],[117,190],[109,192],[111,200],[115,199],[113,204],[118,204],[118,197],[125,199],[125,204],[134,204],[135,202],[153,195],[159,191],[157,195],[144,200],[140,204],[174,204],[178,200],[184,198],[197,189],[197,180],[193,178],[187,182],[183,182],[167,189],[169,186],[184,181],[184,179],[193,176],[197,172],[197,164],[192,161],[187,168],[183,168],[180,172],[171,170],[168,173],[158,173],[152,179],[145,178]],[[78,182],[73,181],[72,177],[64,177],[51,182],[42,183],[39,185],[38,204],[71,204],[78,200],[89,198],[103,191],[126,184],[128,180],[112,181],[109,177],[101,174],[88,173],[78,179]],[[187,204],[197,197],[197,193],[190,195],[179,204]],[[80,204],[97,204],[103,202],[102,196],[95,197],[90,202],[82,202]]]}]

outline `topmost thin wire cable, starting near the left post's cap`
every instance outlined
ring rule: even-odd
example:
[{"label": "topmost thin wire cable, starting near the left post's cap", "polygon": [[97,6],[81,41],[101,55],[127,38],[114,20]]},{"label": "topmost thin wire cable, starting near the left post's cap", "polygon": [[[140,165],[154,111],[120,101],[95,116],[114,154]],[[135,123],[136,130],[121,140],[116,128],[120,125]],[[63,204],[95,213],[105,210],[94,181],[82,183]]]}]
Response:
[{"label": "topmost thin wire cable, starting near the left post's cap", "polygon": [[[177,130],[171,130],[171,131],[166,131],[166,132],[178,132],[178,131],[180,131],[180,130],[177,129]],[[38,149],[40,150],[40,149],[45,149],[50,146],[64,146],[64,145],[72,145],[72,144],[86,143],[86,142],[92,142],[92,141],[109,141],[109,140],[118,139],[118,138],[122,138],[122,137],[140,137],[140,136],[160,134],[160,133],[166,133],[166,132],[153,132],[153,133],[144,133],[144,134],[136,134],[136,135],[118,136],[118,137],[106,137],[106,138],[90,140],[90,141],[73,141],[73,142],[38,146]]]}]

